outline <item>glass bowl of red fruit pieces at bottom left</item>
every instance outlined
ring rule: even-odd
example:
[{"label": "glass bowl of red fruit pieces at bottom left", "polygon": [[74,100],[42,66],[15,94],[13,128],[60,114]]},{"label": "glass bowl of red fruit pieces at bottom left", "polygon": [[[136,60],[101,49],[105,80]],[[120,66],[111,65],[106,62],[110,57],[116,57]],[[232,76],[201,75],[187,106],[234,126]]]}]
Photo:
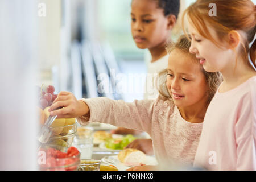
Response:
[{"label": "glass bowl of red fruit pieces at bottom left", "polygon": [[80,164],[80,152],[79,154],[71,157],[58,158],[56,153],[54,157],[52,155],[49,155],[49,148],[51,148],[51,150],[58,150],[61,153],[67,152],[69,147],[61,147],[48,144],[41,146],[39,150],[40,153],[38,154],[40,158],[38,159],[38,163],[41,171],[77,171],[77,168]]}]

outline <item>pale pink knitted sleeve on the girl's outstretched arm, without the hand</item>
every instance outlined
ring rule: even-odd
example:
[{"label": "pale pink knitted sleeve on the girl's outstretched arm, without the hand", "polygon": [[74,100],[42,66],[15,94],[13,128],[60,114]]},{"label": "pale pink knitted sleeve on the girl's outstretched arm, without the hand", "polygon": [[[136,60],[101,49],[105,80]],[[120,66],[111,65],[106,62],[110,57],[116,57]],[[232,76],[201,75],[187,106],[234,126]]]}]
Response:
[{"label": "pale pink knitted sleeve on the girl's outstretched arm, without the hand", "polygon": [[98,97],[82,99],[82,101],[88,105],[89,113],[77,118],[81,124],[102,122],[151,134],[154,100],[134,100],[129,103],[123,100],[115,101],[106,97]]}]

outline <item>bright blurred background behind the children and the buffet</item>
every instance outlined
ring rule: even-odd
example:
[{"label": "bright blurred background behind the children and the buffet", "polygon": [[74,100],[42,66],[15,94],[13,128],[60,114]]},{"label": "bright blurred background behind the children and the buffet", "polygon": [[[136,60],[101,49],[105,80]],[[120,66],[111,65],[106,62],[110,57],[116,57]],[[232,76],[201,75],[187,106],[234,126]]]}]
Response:
[{"label": "bright blurred background behind the children and the buffet", "polygon": [[[181,0],[180,13],[194,1]],[[0,1],[0,170],[37,169],[36,85],[77,98],[143,98],[113,92],[115,76],[145,74],[150,61],[131,36],[130,8],[131,0]],[[181,33],[179,19],[172,39]]]}]

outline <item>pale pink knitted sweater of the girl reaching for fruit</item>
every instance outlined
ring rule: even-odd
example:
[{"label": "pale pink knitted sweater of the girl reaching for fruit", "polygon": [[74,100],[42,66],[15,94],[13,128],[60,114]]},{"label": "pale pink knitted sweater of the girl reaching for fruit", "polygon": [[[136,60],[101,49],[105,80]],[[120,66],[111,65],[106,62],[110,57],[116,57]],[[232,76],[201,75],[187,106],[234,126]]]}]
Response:
[{"label": "pale pink knitted sweater of the girl reaching for fruit", "polygon": [[185,121],[171,99],[162,100],[159,96],[156,100],[134,100],[132,103],[106,97],[82,100],[90,109],[89,121],[85,117],[77,118],[82,125],[103,122],[146,131],[151,136],[159,164],[192,166],[203,123]]}]

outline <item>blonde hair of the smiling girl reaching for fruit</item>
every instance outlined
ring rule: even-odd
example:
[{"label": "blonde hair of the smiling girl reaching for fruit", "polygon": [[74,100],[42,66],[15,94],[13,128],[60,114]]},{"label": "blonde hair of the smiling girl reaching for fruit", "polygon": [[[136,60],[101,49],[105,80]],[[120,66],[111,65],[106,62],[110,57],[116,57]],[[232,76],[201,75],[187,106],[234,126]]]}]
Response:
[{"label": "blonde hair of the smiling girl reaching for fruit", "polygon": [[[177,40],[176,43],[168,43],[166,45],[166,50],[170,54],[171,51],[173,51],[174,49],[179,49],[180,51],[189,55],[193,63],[200,65],[201,71],[204,73],[204,76],[205,76],[205,81],[207,81],[207,85],[209,86],[209,92],[208,92],[208,104],[209,104],[214,94],[216,93],[218,86],[220,86],[222,82],[222,75],[220,72],[211,73],[211,72],[205,71],[203,69],[203,65],[201,65],[199,61],[196,59],[196,56],[189,53],[190,46],[191,46],[191,41],[185,35],[181,35],[179,40]],[[167,99],[167,98],[170,98],[171,96],[166,86],[166,79],[167,79],[167,69],[164,69],[159,73],[159,95]]]}]

